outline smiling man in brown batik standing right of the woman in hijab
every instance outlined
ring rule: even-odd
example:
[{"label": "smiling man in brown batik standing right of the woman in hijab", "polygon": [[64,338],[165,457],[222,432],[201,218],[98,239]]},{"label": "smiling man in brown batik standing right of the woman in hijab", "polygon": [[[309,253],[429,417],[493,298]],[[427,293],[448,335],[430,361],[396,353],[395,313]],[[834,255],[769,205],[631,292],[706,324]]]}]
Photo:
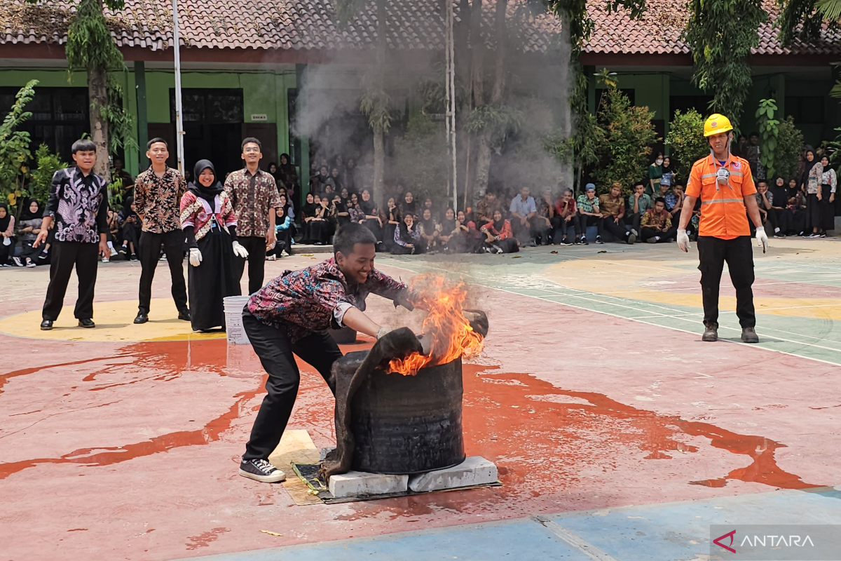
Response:
[{"label": "smiling man in brown batik standing right of the woman in hijab", "polygon": [[[246,167],[231,173],[225,179],[228,193],[236,214],[236,236],[248,251],[248,294],[262,287],[266,267],[266,250],[274,247],[274,217],[280,208],[278,186],[274,177],[260,169],[262,144],[256,138],[242,140],[242,159]],[[234,278],[242,278],[246,259],[234,257]]]}]

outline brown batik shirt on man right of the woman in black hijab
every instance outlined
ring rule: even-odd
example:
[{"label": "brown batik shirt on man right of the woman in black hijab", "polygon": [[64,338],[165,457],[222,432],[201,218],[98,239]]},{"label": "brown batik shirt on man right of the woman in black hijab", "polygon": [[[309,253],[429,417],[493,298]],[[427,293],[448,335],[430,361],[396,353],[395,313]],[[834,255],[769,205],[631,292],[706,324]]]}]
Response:
[{"label": "brown batik shirt on man right of the woman in black hijab", "polygon": [[280,208],[280,197],[270,174],[261,169],[254,175],[247,168],[237,170],[225,179],[225,192],[234,205],[236,236],[262,237],[274,227],[268,223],[268,211]]}]

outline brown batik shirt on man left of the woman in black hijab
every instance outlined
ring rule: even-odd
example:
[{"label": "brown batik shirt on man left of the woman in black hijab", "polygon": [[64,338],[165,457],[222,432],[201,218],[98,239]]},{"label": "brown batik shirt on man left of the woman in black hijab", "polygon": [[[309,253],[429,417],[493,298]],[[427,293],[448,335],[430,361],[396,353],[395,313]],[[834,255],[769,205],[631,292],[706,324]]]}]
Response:
[{"label": "brown batik shirt on man left of the woman in black hijab", "polygon": [[167,167],[157,177],[151,167],[135,179],[135,203],[132,207],[143,216],[143,231],[163,234],[181,230],[181,198],[187,191],[184,177]]}]

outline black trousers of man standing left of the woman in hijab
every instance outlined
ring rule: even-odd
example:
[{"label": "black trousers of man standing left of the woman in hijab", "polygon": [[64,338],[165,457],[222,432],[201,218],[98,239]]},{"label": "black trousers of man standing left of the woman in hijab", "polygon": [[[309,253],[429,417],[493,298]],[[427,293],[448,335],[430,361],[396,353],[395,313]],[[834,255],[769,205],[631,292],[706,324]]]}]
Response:
[{"label": "black trousers of man standing left of the woman in hijab", "polygon": [[152,280],[155,279],[155,269],[158,258],[161,257],[161,247],[167,253],[169,274],[172,277],[172,299],[178,311],[187,310],[187,284],[184,283],[184,232],[173,230],[163,234],[140,232],[138,244],[140,259],[140,293],[137,309],[144,314],[149,313],[149,303],[152,298]]}]

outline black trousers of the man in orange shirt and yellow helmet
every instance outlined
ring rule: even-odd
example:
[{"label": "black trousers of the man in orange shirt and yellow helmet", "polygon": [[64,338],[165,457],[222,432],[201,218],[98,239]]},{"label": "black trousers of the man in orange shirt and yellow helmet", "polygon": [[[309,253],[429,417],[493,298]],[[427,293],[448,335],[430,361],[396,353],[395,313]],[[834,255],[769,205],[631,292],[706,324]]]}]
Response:
[{"label": "black trousers of the man in orange shirt and yellow helmet", "polygon": [[754,251],[750,236],[722,240],[712,236],[698,236],[698,257],[701,264],[701,294],[704,299],[704,325],[718,326],[718,289],[722,282],[724,263],[730,270],[730,280],[736,288],[736,315],[742,327],[756,326],[754,310]]}]

